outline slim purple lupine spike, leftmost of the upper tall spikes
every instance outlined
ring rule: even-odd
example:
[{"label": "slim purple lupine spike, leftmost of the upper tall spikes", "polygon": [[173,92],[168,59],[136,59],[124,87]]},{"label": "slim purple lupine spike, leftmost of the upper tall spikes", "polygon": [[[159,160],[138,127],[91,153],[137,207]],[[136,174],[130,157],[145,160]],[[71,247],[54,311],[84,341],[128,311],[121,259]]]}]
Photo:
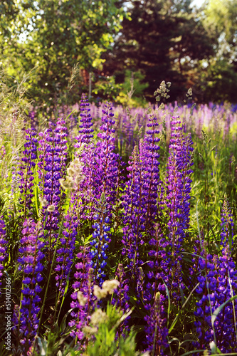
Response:
[{"label": "slim purple lupine spike, leftmost of the upper tall spikes", "polygon": [[19,171],[19,175],[21,176],[19,182],[21,198],[19,199],[19,203],[23,206],[23,219],[26,219],[26,214],[31,214],[32,209],[33,169],[36,165],[34,160],[37,158],[37,142],[36,130],[26,130],[26,143],[24,144]]}]

